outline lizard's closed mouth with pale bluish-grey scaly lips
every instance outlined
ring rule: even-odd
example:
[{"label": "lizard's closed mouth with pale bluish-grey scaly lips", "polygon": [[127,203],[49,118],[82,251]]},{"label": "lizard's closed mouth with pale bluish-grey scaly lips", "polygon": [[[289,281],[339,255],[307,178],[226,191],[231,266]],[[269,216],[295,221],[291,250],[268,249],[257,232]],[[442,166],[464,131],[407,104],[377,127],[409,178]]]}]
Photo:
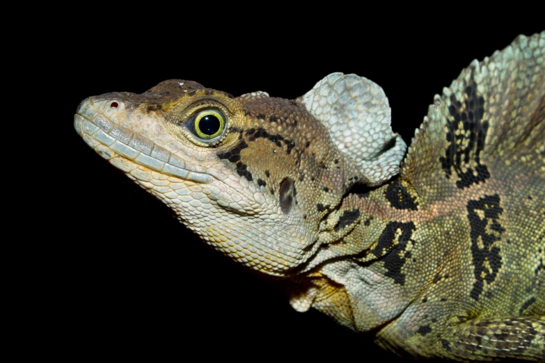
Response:
[{"label": "lizard's closed mouth with pale bluish-grey scaly lips", "polygon": [[[201,166],[193,166],[168,150],[141,135],[111,122],[101,113],[91,118],[81,113],[74,115],[74,128],[81,138],[104,159],[122,156],[139,166],[145,166],[164,175],[210,184],[214,177],[199,172]],[[128,165],[127,165],[128,167]],[[199,170],[199,171],[198,171]],[[128,170],[123,170],[127,172]]]}]

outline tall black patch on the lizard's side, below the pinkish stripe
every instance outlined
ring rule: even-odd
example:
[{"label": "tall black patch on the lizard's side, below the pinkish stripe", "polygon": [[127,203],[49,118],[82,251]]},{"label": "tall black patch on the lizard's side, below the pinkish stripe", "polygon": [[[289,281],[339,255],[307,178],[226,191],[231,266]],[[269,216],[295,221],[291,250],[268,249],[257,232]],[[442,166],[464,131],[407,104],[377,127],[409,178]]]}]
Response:
[{"label": "tall black patch on the lizard's side, below the pinkish stripe", "polygon": [[[500,196],[485,195],[479,200],[470,200],[467,204],[468,220],[471,226],[471,255],[473,255],[473,266],[475,282],[470,296],[479,300],[479,296],[484,289],[484,281],[491,284],[496,280],[496,275],[502,265],[500,248],[494,245],[500,241],[501,234],[505,229],[500,225],[500,214],[503,209],[500,207]],[[484,218],[481,219],[477,210],[484,212]],[[492,229],[493,234],[489,234]],[[482,248],[479,245],[483,245]],[[490,269],[489,267],[490,266]]]}]

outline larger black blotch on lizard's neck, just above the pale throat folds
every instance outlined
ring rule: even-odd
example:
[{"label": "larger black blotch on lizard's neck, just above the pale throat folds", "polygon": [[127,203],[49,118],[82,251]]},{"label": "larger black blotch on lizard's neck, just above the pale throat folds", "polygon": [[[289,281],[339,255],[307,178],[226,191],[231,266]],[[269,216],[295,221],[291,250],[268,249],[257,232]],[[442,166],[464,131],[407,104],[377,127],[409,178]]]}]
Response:
[{"label": "larger black blotch on lizard's neck, just above the pale throat folds", "polygon": [[[401,234],[396,238],[398,229]],[[411,251],[406,251],[407,244],[409,241],[413,246],[416,244],[416,241],[411,240],[414,230],[416,227],[413,222],[390,222],[384,227],[375,248],[371,250],[376,257],[382,257],[387,270],[385,275],[393,278],[395,284],[405,284],[405,275],[401,269],[406,259],[411,257]]]}]

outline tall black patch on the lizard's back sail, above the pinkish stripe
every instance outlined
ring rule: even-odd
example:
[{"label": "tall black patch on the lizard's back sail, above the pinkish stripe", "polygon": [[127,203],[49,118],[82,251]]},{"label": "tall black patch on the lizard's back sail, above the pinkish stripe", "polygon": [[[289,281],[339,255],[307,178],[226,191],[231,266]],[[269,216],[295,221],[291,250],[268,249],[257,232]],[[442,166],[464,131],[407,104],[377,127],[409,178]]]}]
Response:
[{"label": "tall black patch on the lizard's back sail, above the pinkish stripe", "polygon": [[[456,186],[466,188],[473,184],[484,183],[490,177],[487,166],[480,161],[480,152],[484,150],[484,140],[489,124],[487,121],[482,121],[484,98],[477,95],[477,87],[473,79],[466,86],[461,99],[464,99],[464,107],[454,94],[450,95],[451,105],[448,111],[454,120],[446,120],[448,127],[446,140],[449,145],[445,150],[445,156],[441,156],[439,161],[441,161],[441,168],[445,171],[445,177],[450,178],[454,169],[458,176]],[[462,121],[461,125],[460,121]],[[471,159],[476,164],[475,169],[468,167],[468,164],[472,162]],[[466,168],[465,172],[464,168]]]}]

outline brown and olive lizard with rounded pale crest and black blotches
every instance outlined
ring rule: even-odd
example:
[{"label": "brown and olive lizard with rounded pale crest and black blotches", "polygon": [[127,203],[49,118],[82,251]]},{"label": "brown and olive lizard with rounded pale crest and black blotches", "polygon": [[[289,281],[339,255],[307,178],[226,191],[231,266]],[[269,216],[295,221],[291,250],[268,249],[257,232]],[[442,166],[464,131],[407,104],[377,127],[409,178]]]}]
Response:
[{"label": "brown and olive lizard with rounded pale crest and black blotches", "polygon": [[354,74],[294,100],[169,80],[90,97],[74,127],[300,312],[407,357],[543,360],[544,57],[542,32],[471,63],[408,152]]}]

